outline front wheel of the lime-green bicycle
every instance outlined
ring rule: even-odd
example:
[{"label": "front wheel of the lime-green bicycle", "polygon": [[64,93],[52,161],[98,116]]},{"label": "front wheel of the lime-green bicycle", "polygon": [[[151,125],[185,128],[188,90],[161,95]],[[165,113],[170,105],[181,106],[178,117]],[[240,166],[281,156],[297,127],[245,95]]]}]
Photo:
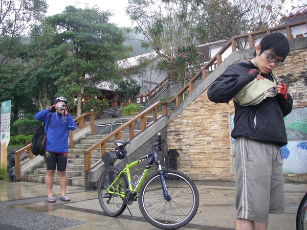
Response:
[{"label": "front wheel of the lime-green bicycle", "polygon": [[144,181],[139,192],[139,206],[144,218],[153,226],[175,229],[192,220],[199,206],[194,182],[184,173],[166,170],[164,180],[170,200],[164,199],[159,172]]}]

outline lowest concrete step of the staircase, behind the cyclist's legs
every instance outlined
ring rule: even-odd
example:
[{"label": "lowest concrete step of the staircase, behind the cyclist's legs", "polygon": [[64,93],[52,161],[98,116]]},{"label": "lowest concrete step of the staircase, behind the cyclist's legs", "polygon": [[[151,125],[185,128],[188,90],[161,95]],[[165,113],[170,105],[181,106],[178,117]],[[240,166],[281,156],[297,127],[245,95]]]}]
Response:
[{"label": "lowest concrete step of the staircase, behind the cyclist's legs", "polygon": [[[45,175],[28,173],[26,174],[26,181],[45,183]],[[54,184],[59,185],[59,178],[58,178],[57,173],[55,173],[54,175]],[[67,185],[83,187],[84,177],[83,176],[78,176],[74,178],[67,177]]]}]

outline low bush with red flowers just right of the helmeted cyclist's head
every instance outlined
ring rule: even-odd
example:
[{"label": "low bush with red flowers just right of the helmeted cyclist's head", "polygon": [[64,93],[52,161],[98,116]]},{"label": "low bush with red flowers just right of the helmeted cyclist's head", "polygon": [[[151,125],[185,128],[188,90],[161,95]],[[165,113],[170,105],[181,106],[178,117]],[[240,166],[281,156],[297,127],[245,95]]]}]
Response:
[{"label": "low bush with red flowers just right of the helmeted cyclist's head", "polygon": [[94,119],[97,120],[103,111],[109,106],[109,102],[99,99],[97,96],[88,96],[83,101],[82,110],[84,112],[94,112]]}]

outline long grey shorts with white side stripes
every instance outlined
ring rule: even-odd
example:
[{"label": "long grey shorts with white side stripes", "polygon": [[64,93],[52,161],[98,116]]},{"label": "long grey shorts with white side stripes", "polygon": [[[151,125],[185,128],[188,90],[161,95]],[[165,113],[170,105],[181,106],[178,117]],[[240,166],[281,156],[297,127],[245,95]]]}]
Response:
[{"label": "long grey shorts with white side stripes", "polygon": [[234,145],[236,219],[268,222],[284,213],[283,172],[276,144],[238,137]]}]

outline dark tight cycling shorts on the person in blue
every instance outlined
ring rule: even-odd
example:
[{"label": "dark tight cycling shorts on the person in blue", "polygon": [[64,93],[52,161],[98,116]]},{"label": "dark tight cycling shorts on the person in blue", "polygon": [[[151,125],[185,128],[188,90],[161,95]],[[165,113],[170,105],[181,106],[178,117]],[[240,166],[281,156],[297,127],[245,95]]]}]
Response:
[{"label": "dark tight cycling shorts on the person in blue", "polygon": [[47,170],[57,169],[57,171],[59,172],[66,171],[67,155],[68,154],[46,151],[45,160],[46,160]]}]

